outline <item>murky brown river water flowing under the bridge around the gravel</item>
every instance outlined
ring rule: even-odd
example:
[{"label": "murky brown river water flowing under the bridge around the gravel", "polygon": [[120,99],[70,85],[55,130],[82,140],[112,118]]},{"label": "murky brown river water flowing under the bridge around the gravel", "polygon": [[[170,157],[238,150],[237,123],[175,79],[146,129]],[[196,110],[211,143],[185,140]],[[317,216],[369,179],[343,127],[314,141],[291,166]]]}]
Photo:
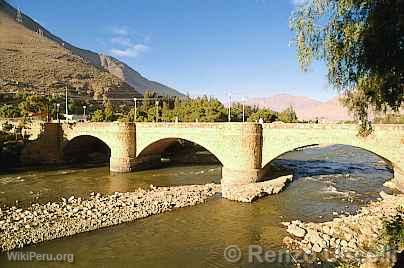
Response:
[{"label": "murky brown river water flowing under the bridge around the gravel", "polygon": [[[355,213],[378,197],[392,177],[388,165],[367,151],[350,146],[313,147],[283,155],[273,162],[272,174],[287,168],[295,181],[286,191],[242,204],[213,197],[194,207],[176,209],[115,227],[33,245],[19,251],[72,253],[68,263],[22,263],[0,255],[0,267],[287,267],[248,259],[250,245],[281,255],[286,236],[282,221],[326,221],[336,213]],[[287,173],[287,172],[286,172]],[[28,206],[31,202],[60,200],[91,192],[133,191],[139,187],[219,183],[220,167],[167,167],[111,175],[107,167],[25,171],[0,175],[1,206]],[[236,264],[224,258],[235,245],[242,258]],[[262,255],[263,256],[263,255]],[[268,260],[268,259],[267,259]]]}]

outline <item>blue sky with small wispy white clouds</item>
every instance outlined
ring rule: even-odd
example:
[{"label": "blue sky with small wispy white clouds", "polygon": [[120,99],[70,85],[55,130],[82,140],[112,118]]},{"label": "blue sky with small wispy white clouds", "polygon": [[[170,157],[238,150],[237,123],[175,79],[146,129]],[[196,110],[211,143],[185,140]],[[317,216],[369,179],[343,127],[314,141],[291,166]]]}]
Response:
[{"label": "blue sky with small wispy white clouds", "polygon": [[53,34],[191,96],[327,100],[324,63],[298,66],[289,17],[304,0],[9,0]]}]

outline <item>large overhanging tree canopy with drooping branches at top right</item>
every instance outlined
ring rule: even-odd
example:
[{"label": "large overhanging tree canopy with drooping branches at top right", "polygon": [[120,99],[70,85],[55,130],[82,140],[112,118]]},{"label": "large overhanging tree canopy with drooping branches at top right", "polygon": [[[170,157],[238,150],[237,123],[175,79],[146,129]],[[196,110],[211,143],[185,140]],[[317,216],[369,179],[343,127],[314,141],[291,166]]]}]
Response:
[{"label": "large overhanging tree canopy with drooping branches at top right", "polygon": [[309,0],[292,14],[303,70],[324,60],[330,83],[367,129],[368,112],[404,102],[404,0]]}]

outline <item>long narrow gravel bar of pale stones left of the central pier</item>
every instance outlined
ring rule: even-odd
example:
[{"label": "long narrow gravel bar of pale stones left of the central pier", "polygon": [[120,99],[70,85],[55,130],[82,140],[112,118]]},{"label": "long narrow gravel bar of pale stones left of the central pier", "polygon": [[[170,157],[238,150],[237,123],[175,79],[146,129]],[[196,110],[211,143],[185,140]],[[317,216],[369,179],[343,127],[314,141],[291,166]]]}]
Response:
[{"label": "long narrow gravel bar of pale stones left of the central pier", "polygon": [[204,202],[220,191],[218,184],[153,187],[135,192],[74,196],[60,202],[32,204],[28,209],[0,209],[0,248],[26,245],[133,221],[174,208]]}]

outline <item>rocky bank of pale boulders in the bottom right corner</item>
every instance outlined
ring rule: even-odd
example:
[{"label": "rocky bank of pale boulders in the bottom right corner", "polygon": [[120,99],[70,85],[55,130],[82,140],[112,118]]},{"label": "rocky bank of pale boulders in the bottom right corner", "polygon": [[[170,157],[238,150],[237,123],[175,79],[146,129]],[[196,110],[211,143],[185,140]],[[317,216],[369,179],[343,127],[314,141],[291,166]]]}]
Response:
[{"label": "rocky bank of pale boulders in the bottom right corner", "polygon": [[386,250],[387,242],[382,239],[384,223],[404,206],[404,195],[381,192],[380,196],[381,200],[363,207],[356,215],[324,223],[285,222],[293,238],[285,237],[284,243],[289,249],[299,249],[325,261],[391,267],[395,252]]}]

